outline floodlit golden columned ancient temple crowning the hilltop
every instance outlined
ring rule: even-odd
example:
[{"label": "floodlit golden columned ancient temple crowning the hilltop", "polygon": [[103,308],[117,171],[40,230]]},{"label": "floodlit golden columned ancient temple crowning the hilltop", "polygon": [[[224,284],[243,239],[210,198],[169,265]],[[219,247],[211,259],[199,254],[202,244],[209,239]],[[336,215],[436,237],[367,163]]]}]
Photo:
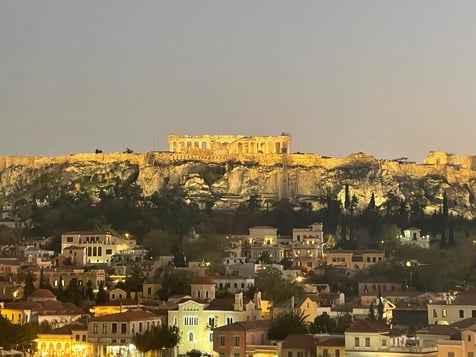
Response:
[{"label": "floodlit golden columned ancient temple crowning the hilltop", "polygon": [[227,150],[229,154],[289,154],[291,134],[279,136],[169,134],[171,152]]}]

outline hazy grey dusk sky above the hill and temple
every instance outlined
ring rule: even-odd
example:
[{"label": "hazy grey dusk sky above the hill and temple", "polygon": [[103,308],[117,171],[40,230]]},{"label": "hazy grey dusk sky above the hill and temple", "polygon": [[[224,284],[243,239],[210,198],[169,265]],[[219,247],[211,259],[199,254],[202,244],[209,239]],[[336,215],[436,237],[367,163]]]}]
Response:
[{"label": "hazy grey dusk sky above the hill and temple", "polygon": [[292,134],[476,154],[476,1],[0,1],[0,155]]}]

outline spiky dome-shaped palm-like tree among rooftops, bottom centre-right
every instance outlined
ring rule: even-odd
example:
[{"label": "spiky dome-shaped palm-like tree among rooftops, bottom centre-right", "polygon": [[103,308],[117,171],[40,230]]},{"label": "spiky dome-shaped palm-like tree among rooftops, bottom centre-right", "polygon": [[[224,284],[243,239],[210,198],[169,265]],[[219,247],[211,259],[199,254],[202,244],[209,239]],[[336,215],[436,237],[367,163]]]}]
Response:
[{"label": "spiky dome-shaped palm-like tree among rooftops, bottom centre-right", "polygon": [[279,314],[269,329],[271,340],[284,340],[290,334],[308,333],[306,315],[301,310],[290,309]]}]

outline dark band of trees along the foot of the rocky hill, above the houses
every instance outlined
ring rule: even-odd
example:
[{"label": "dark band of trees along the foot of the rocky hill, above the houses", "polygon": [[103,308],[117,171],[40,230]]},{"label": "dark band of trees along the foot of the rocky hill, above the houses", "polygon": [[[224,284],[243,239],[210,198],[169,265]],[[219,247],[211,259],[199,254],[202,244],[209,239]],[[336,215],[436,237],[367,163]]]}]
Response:
[{"label": "dark band of trees along the foot of the rocky hill, above the houses", "polygon": [[403,201],[389,196],[377,207],[372,194],[366,208],[357,212],[357,198],[346,186],[344,202],[329,193],[320,198],[317,210],[310,203],[296,204],[287,199],[263,202],[255,195],[234,211],[219,211],[212,209],[212,201],[199,207],[178,186],[143,197],[140,188],[130,184],[100,192],[99,200],[79,190],[61,195],[47,206],[19,202],[17,209],[24,218],[32,219],[33,228],[26,235],[58,238],[71,230],[109,230],[128,232],[139,243],[151,230],[167,232],[180,240],[192,228],[200,234],[247,234],[249,227],[269,225],[280,235],[290,235],[295,227],[322,222],[326,237],[332,235],[343,248],[378,247],[382,239],[394,233],[386,231],[388,225],[398,229],[414,226],[423,234],[442,236],[440,244],[444,248],[454,244],[453,229],[469,232],[474,226],[474,221],[448,215],[446,196],[432,216],[424,214],[421,202],[418,197]]}]

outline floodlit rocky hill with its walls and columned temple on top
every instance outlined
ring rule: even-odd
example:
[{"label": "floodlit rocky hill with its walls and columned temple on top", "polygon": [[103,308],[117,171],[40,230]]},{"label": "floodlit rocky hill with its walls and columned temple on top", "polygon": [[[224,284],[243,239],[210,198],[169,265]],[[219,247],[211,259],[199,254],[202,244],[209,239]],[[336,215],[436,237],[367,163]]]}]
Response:
[{"label": "floodlit rocky hill with its walls and columned temple on top", "polygon": [[[476,216],[476,157],[430,152],[423,164],[381,160],[363,153],[345,158],[291,153],[291,136],[169,135],[168,152],[85,153],[57,157],[0,157],[0,205],[18,200],[48,204],[60,193],[85,191],[99,199],[114,185],[136,185],[144,196],[179,185],[188,199],[233,209],[257,195],[261,202],[289,199],[317,208],[322,197],[343,201],[348,184],[364,208],[372,193],[383,210],[419,200],[425,212],[440,209]],[[393,202],[394,201],[394,202]]]}]

